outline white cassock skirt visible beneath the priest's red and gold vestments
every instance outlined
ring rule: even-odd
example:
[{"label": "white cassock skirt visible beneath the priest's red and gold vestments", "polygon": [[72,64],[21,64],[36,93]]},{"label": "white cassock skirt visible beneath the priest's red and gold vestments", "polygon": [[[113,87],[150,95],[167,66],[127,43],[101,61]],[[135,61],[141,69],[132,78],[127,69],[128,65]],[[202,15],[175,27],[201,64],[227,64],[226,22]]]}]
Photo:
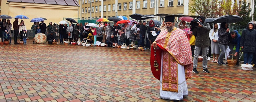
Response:
[{"label": "white cassock skirt visible beneath the priest's red and gold vestments", "polygon": [[162,99],[170,99],[170,100],[183,100],[184,96],[188,95],[188,87],[185,76],[185,68],[178,64],[178,93],[171,91],[163,91],[162,90],[162,73],[163,73],[163,53],[161,59],[161,76],[160,76],[160,98]]}]

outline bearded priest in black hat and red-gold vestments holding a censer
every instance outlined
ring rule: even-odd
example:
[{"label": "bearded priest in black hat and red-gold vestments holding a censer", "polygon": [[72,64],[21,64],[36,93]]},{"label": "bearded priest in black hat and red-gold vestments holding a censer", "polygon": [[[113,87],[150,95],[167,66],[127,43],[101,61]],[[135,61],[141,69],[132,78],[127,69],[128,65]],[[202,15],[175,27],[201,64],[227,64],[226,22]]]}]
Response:
[{"label": "bearded priest in black hat and red-gold vestments holding a censer", "polygon": [[174,27],[174,17],[165,17],[166,29],[151,46],[150,64],[160,81],[160,98],[183,100],[188,95],[186,80],[191,78],[191,47],[184,31]]}]

